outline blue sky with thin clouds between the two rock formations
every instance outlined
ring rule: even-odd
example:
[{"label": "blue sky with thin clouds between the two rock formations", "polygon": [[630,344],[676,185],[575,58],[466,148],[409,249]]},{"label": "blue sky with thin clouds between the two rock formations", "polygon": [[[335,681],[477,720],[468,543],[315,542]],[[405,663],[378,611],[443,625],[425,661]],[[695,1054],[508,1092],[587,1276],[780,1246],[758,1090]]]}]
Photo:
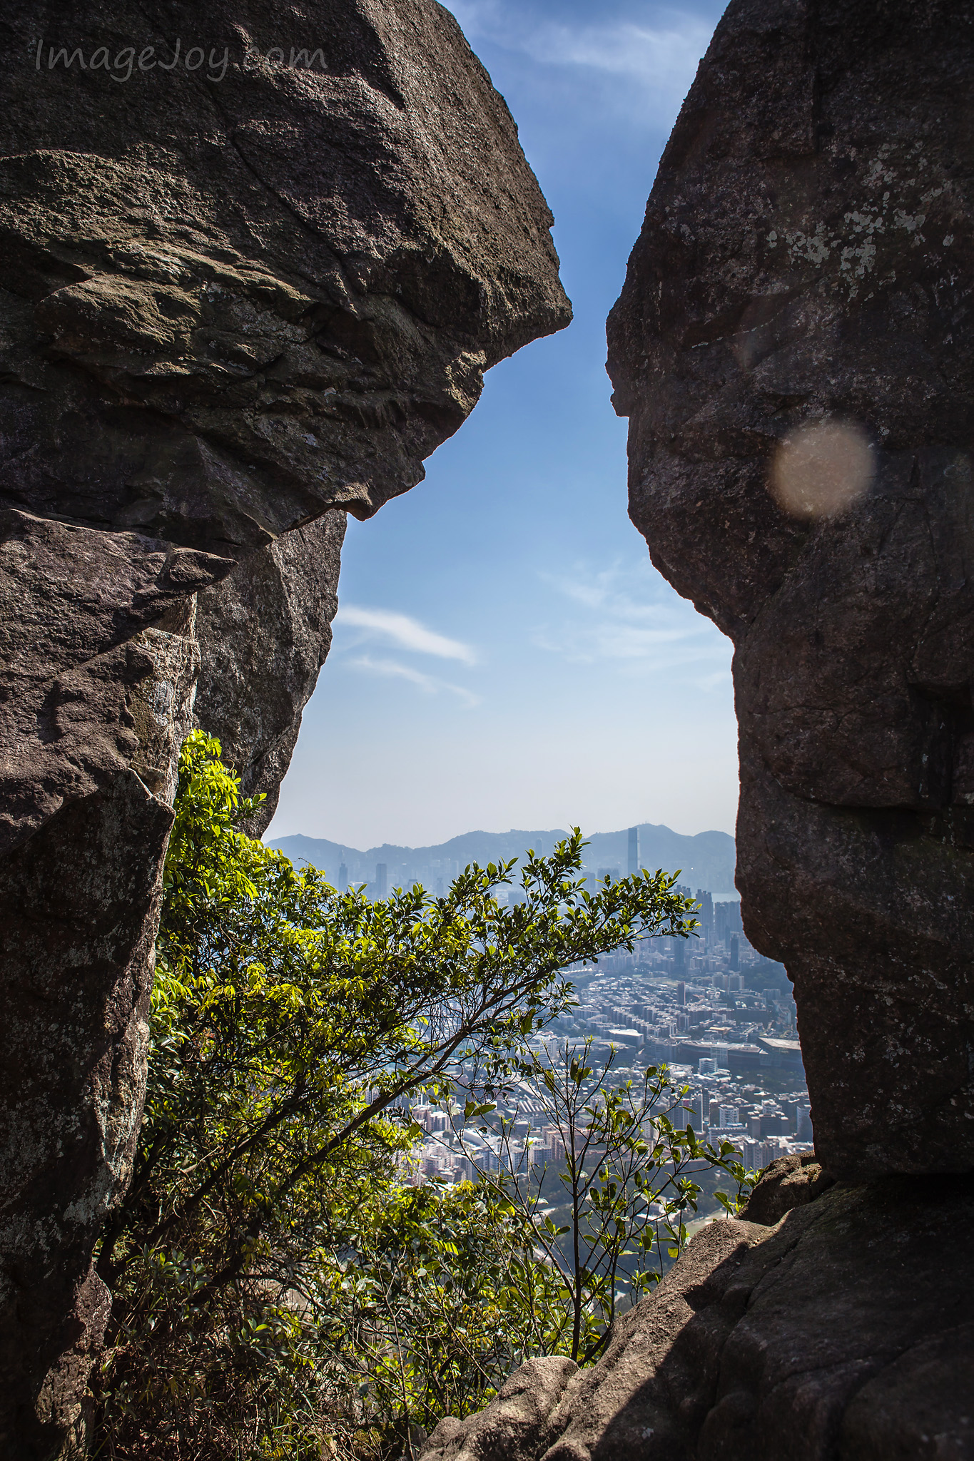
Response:
[{"label": "blue sky with thin clouds between the two rock formations", "polygon": [[574,324],[495,367],[426,481],[349,523],[334,646],[267,833],[733,831],[730,643],[626,516],[605,317],[723,4],[453,0],[555,213]]}]

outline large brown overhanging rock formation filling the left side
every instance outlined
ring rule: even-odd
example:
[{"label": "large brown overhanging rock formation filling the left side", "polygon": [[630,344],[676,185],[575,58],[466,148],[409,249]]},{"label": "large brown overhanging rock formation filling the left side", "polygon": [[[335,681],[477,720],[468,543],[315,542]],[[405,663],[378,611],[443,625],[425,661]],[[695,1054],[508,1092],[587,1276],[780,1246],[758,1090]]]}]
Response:
[{"label": "large brown overhanging rock formation filling the left side", "polygon": [[34,1458],[83,1429],[200,649],[273,796],[343,514],[568,304],[434,0],[12,0],[0,51],[0,1451]]}]

